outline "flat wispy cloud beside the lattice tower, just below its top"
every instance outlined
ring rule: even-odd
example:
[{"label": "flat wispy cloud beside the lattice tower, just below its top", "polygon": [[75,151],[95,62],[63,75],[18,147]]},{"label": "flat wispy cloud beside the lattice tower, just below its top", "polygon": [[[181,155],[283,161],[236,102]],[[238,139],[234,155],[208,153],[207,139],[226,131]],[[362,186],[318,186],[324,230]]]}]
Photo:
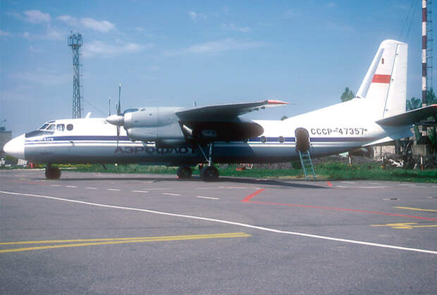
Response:
[{"label": "flat wispy cloud beside the lattice tower, just below its top", "polygon": [[118,56],[120,54],[130,54],[139,51],[143,51],[145,49],[152,48],[153,44],[137,44],[137,43],[127,43],[120,45],[107,44],[101,41],[94,41],[91,43],[86,43],[83,45],[83,56],[91,57],[91,56]]}]

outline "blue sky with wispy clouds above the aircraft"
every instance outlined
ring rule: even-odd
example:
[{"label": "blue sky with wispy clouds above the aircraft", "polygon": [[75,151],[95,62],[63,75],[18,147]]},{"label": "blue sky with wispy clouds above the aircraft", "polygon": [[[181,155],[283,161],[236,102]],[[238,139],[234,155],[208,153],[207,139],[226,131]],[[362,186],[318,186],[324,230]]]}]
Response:
[{"label": "blue sky with wispy clouds above the aircraft", "polygon": [[72,118],[70,32],[80,33],[82,117],[141,106],[280,99],[280,119],[357,92],[384,39],[409,44],[421,98],[421,1],[0,0],[0,123],[13,136]]}]

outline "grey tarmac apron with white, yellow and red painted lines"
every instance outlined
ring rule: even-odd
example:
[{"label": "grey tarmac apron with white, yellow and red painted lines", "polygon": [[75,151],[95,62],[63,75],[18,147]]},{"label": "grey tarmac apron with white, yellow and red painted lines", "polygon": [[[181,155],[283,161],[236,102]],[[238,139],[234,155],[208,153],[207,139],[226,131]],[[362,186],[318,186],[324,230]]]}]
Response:
[{"label": "grey tarmac apron with white, yellow and red painted lines", "polygon": [[0,170],[1,294],[436,294],[437,184]]}]

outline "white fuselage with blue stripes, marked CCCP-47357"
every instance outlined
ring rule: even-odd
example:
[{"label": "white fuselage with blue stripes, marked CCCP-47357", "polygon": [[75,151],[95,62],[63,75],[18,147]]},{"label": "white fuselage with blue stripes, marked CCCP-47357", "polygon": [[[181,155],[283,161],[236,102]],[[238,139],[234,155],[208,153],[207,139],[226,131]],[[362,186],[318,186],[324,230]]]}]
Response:
[{"label": "white fuselage with blue stripes, marked CCCP-47357", "polygon": [[[384,129],[374,123],[368,107],[364,99],[353,99],[286,120],[254,120],[264,133],[247,142],[215,142],[214,163],[291,161],[299,156],[295,149],[298,127],[309,132],[309,152],[314,157],[410,135],[408,126]],[[29,132],[13,139],[23,144],[23,155],[16,156],[36,163],[195,165],[203,163],[204,153],[209,152],[207,146],[156,147],[154,142],[132,142],[123,128],[117,137],[116,126],[107,123],[106,118],[55,120],[49,124],[55,125],[54,130]]]}]

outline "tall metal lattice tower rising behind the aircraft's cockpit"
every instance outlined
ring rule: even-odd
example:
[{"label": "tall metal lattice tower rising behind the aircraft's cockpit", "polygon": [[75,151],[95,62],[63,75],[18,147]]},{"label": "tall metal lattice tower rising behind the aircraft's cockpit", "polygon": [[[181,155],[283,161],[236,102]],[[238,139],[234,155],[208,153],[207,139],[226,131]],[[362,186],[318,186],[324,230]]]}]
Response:
[{"label": "tall metal lattice tower rising behind the aircraft's cockpit", "polygon": [[82,35],[71,32],[68,37],[68,46],[73,51],[73,119],[82,118],[82,103],[80,96],[80,46]]}]

